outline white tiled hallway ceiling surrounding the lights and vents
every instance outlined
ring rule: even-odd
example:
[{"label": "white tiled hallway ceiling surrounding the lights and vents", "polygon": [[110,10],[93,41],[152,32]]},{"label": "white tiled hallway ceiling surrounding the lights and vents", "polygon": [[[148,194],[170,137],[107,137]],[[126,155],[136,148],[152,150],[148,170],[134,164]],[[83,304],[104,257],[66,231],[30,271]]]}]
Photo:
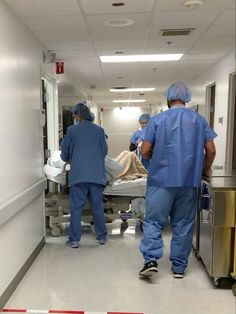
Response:
[{"label": "white tiled hallway ceiling surrounding the lights and vents", "polygon": [[[185,8],[185,0],[125,0],[120,8],[112,6],[115,0],[5,1],[48,49],[65,61],[66,75],[75,89],[93,95],[103,106],[112,106],[111,86],[154,86],[158,92],[146,93],[145,98],[147,103],[157,102],[174,80],[188,82],[235,49],[235,0],[206,0],[196,10]],[[135,23],[104,26],[104,20],[110,18],[129,18]],[[160,37],[161,28],[185,27],[196,30],[188,37]],[[100,63],[99,55],[116,51],[182,52],[184,56],[179,62]],[[95,90],[90,89],[91,84],[96,85]]]}]

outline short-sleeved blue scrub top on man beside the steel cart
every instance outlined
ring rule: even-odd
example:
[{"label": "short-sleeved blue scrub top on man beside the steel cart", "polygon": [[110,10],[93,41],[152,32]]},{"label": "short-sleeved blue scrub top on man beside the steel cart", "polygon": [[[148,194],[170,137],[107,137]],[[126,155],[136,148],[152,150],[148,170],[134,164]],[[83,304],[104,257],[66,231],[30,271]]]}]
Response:
[{"label": "short-sleeved blue scrub top on man beside the steel cart", "polygon": [[198,187],[201,181],[204,146],[216,137],[206,120],[183,105],[151,118],[144,141],[152,144],[148,185]]}]

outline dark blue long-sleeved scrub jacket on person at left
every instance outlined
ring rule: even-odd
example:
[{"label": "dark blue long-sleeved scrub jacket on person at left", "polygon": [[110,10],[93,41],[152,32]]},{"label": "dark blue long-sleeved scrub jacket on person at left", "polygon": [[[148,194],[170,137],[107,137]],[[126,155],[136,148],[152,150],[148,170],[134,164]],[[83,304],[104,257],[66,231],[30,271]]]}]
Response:
[{"label": "dark blue long-sleeved scrub jacket on person at left", "polygon": [[103,128],[88,120],[67,129],[61,158],[70,163],[69,186],[78,183],[106,185],[107,143]]}]

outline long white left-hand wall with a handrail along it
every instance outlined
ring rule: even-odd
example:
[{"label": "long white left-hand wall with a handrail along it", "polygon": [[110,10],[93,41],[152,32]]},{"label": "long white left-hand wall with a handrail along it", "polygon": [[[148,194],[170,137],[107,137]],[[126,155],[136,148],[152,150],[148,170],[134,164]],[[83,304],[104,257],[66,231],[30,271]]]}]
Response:
[{"label": "long white left-hand wall with a handrail along it", "polygon": [[0,1],[0,299],[44,236],[43,47]]}]

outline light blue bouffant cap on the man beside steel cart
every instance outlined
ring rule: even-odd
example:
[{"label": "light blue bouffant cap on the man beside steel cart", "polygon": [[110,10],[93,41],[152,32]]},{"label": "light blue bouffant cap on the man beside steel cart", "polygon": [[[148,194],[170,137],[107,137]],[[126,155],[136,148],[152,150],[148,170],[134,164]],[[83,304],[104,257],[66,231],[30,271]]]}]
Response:
[{"label": "light blue bouffant cap on the man beside steel cart", "polygon": [[186,103],[191,101],[191,91],[182,82],[173,83],[165,92],[164,95],[168,100],[182,100]]}]

